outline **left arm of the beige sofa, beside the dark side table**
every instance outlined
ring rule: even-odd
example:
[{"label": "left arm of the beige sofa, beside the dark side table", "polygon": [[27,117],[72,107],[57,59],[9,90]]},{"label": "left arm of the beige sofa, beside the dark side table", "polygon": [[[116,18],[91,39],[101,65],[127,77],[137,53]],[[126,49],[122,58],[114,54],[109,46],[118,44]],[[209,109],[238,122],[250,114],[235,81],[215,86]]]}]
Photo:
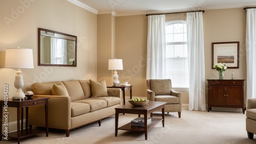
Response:
[{"label": "left arm of the beige sofa, beside the dark side table", "polygon": [[[50,128],[71,128],[71,98],[67,95],[39,95],[48,100],[48,122]],[[32,97],[33,98],[33,97]],[[29,125],[45,127],[45,107],[37,105],[29,108]]]}]

